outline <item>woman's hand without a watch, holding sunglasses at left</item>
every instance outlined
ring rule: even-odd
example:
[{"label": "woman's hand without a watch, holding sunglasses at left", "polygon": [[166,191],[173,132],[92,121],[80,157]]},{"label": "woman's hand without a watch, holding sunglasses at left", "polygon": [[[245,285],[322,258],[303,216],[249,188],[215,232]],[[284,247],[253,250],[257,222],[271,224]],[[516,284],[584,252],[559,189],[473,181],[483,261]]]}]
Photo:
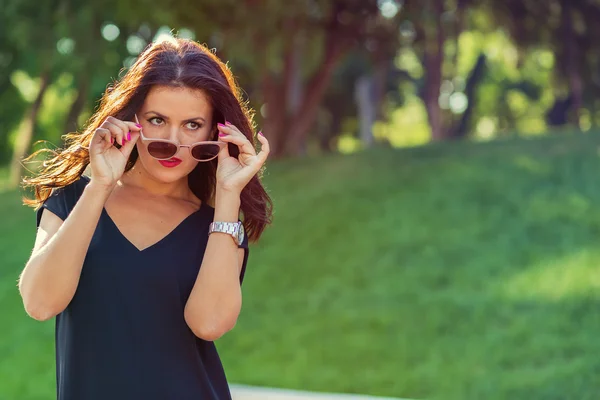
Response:
[{"label": "woman's hand without a watch, holding sunglasses at left", "polygon": [[[90,143],[92,181],[112,190],[123,175],[127,160],[140,134],[134,122],[108,117],[94,132]],[[115,146],[116,143],[121,148]]]}]

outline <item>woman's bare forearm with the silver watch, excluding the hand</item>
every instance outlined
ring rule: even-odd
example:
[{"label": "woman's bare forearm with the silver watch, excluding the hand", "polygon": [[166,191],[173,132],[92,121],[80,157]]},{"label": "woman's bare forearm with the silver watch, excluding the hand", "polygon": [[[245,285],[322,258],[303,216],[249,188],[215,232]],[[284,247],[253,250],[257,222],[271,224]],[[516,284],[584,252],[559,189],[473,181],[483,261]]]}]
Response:
[{"label": "woman's bare forearm with the silver watch, excluding the hand", "polygon": [[[240,196],[217,191],[215,221],[237,222]],[[245,249],[238,248],[231,235],[212,233],[196,283],[185,306],[185,320],[194,334],[216,340],[231,330],[242,307],[240,273]]]}]

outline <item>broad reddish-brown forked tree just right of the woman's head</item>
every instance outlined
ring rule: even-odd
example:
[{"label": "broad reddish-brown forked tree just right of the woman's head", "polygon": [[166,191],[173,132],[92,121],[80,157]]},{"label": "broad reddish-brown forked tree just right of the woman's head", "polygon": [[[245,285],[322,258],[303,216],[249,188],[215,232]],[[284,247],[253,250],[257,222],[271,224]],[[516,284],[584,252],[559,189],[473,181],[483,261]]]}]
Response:
[{"label": "broad reddish-brown forked tree just right of the woman's head", "polygon": [[[274,157],[303,152],[329,83],[350,49],[375,40],[375,33],[381,37],[381,26],[388,27],[388,36],[397,35],[376,0],[235,4],[229,10],[210,1],[195,3],[193,15],[211,15],[219,54],[234,71],[241,68],[248,74],[250,82],[242,84],[265,111],[261,122]],[[192,24],[192,14],[185,10],[181,21]]]}]

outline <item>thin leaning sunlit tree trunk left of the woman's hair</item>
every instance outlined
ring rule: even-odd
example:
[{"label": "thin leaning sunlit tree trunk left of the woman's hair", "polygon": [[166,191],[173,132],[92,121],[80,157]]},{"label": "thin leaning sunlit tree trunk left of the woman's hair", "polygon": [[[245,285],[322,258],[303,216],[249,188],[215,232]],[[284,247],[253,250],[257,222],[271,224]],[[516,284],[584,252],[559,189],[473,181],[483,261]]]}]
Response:
[{"label": "thin leaning sunlit tree trunk left of the woman's hair", "polygon": [[23,165],[21,160],[27,155],[29,148],[31,147],[31,141],[35,131],[35,125],[37,122],[37,116],[42,105],[42,99],[44,94],[50,85],[50,68],[46,67],[40,75],[40,90],[35,98],[34,102],[27,110],[21,126],[19,127],[19,133],[15,141],[15,147],[13,149],[13,157],[10,164],[10,182],[11,188],[16,188],[21,182],[23,173]]}]

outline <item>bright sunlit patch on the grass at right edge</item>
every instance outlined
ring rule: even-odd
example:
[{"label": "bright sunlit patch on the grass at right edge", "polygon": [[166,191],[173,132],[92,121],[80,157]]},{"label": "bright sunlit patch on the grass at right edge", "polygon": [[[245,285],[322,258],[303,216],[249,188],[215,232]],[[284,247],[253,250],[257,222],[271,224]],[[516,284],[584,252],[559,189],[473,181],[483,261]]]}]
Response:
[{"label": "bright sunlit patch on the grass at right edge", "polygon": [[501,285],[510,299],[600,297],[600,252],[582,250],[523,270]]}]

